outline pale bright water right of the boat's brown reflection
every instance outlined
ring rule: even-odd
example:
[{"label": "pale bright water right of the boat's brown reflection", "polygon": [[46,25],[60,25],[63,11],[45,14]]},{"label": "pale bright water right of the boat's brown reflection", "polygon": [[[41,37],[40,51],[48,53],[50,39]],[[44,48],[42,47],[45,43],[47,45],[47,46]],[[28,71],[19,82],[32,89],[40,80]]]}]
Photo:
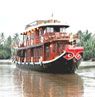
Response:
[{"label": "pale bright water right of the boat's brown reflection", "polygon": [[[88,64],[88,63],[87,63]],[[90,64],[95,64],[94,62]],[[95,96],[95,67],[78,70],[78,75],[83,79],[84,93],[83,97]]]}]

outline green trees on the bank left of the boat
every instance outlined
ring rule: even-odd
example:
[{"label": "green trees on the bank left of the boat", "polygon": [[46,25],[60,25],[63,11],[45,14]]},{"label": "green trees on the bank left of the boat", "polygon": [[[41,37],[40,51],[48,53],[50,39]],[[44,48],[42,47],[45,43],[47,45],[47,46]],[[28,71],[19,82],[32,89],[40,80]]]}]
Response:
[{"label": "green trees on the bank left of the boat", "polygon": [[18,44],[19,42],[19,35],[15,34],[12,38],[9,36],[5,39],[4,33],[0,34],[0,59],[10,59],[14,50],[12,45]]}]

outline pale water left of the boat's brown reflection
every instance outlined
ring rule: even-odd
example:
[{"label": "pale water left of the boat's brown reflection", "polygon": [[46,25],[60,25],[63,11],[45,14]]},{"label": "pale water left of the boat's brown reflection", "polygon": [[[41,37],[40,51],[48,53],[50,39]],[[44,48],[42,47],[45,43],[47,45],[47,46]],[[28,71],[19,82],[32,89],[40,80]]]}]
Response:
[{"label": "pale water left of the boat's brown reflection", "polygon": [[14,67],[12,65],[0,65],[0,97],[19,97],[15,92]]}]

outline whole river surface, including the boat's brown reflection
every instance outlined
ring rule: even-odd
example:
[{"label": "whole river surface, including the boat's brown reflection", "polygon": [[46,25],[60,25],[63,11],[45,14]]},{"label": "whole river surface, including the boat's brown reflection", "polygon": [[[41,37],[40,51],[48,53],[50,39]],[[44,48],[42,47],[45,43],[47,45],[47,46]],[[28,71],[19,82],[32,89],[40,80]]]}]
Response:
[{"label": "whole river surface, including the boat's brown reflection", "polygon": [[75,74],[49,74],[2,64],[0,97],[95,97],[95,67]]}]

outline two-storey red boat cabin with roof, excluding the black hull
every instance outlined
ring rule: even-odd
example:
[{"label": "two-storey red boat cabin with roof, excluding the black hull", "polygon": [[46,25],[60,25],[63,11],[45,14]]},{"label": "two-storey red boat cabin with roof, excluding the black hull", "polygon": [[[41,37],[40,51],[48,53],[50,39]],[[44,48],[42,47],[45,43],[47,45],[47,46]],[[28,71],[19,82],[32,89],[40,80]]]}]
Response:
[{"label": "two-storey red boat cabin with roof, excluding the black hull", "polygon": [[41,62],[53,60],[61,55],[65,47],[76,42],[77,35],[66,32],[68,25],[57,20],[38,20],[26,25],[21,33],[23,42],[17,49],[20,62]]}]

